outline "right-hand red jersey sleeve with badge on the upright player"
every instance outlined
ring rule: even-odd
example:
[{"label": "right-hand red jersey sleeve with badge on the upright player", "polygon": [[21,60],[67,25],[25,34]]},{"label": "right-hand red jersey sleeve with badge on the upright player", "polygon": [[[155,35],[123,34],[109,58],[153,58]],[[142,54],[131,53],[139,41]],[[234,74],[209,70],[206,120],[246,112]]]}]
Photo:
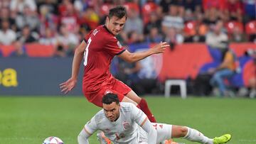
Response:
[{"label": "right-hand red jersey sleeve with badge on the upright player", "polygon": [[113,36],[108,38],[105,45],[105,50],[110,53],[110,55],[120,55],[125,51],[125,48],[122,47],[117,38]]}]

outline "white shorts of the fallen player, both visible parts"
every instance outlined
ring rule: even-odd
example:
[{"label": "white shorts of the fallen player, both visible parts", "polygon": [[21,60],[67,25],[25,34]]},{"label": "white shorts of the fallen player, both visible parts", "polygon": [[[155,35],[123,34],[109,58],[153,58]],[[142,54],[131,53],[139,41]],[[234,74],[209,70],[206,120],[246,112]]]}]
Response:
[{"label": "white shorts of the fallen player, both visible parts", "polygon": [[[152,123],[154,128],[156,128],[157,139],[156,142],[160,143],[164,140],[171,139],[171,128],[172,125],[165,123]],[[139,127],[139,143],[146,144],[148,141],[147,133],[141,127]]]}]

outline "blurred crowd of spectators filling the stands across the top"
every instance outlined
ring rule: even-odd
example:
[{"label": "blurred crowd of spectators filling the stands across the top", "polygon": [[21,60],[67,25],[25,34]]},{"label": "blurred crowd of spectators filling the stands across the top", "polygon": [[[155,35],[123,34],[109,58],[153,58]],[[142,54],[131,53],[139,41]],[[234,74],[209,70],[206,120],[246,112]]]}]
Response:
[{"label": "blurred crowd of spectators filling the stands across the top", "polygon": [[24,43],[54,45],[56,56],[73,55],[116,5],[128,10],[119,35],[123,45],[215,45],[217,34],[232,42],[256,43],[255,0],[1,0],[0,44],[15,45],[17,55],[22,55]]}]

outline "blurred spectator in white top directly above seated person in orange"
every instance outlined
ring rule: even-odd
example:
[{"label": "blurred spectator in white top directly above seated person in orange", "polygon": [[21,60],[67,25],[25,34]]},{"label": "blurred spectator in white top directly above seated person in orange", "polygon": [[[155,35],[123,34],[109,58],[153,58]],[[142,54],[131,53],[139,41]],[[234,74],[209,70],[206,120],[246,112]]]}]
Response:
[{"label": "blurred spectator in white top directly above seated person in orange", "polygon": [[210,27],[210,32],[206,35],[206,44],[211,48],[226,48],[225,41],[228,41],[228,35],[223,32],[223,21],[219,20]]}]

